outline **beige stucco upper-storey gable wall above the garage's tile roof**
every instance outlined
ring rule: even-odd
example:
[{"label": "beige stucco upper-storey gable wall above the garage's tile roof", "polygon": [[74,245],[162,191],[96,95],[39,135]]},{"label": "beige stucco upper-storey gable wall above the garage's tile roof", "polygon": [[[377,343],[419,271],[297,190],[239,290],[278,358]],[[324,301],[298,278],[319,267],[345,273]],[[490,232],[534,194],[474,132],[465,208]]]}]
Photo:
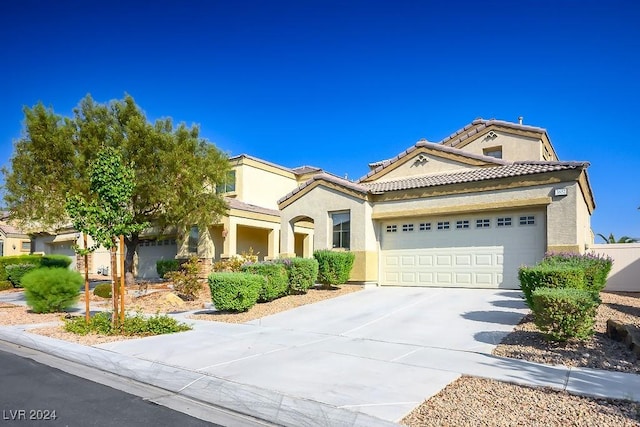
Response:
[{"label": "beige stucco upper-storey gable wall above the garage's tile roof", "polygon": [[543,160],[542,141],[536,138],[528,138],[519,135],[510,135],[501,131],[495,131],[494,138],[488,135],[470,142],[462,150],[473,154],[484,154],[484,150],[493,147],[502,147],[502,158],[504,160]]}]

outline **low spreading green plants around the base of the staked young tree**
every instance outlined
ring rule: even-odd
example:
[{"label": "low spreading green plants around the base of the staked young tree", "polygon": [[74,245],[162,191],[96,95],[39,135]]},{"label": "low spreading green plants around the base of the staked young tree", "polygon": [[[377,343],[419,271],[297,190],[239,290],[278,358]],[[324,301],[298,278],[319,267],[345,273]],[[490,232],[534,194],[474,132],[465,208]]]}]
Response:
[{"label": "low spreading green plants around the base of the staked young tree", "polygon": [[92,316],[89,323],[85,322],[84,317],[65,320],[64,329],[78,335],[97,333],[102,335],[148,336],[188,331],[191,326],[178,322],[169,316],[144,317],[141,314],[136,314],[134,316],[126,316],[122,325],[114,328],[111,323],[111,314],[103,312]]}]

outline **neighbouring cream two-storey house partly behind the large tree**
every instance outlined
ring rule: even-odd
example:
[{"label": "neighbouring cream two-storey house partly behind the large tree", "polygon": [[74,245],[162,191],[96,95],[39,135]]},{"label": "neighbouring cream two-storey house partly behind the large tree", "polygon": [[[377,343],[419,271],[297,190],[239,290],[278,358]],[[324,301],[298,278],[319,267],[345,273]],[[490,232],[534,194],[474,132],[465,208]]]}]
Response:
[{"label": "neighbouring cream two-storey house partly behind the large tree", "polygon": [[[192,226],[157,238],[152,232],[142,236],[138,247],[137,277],[156,278],[159,259],[188,258],[196,255],[205,269],[211,263],[253,251],[258,259],[280,255],[280,211],[278,199],[297,188],[319,168],[286,168],[241,154],[229,159],[227,182],[216,191],[224,195],[229,206],[217,224],[202,229]],[[293,229],[292,253],[312,256],[313,227],[300,222]]]}]

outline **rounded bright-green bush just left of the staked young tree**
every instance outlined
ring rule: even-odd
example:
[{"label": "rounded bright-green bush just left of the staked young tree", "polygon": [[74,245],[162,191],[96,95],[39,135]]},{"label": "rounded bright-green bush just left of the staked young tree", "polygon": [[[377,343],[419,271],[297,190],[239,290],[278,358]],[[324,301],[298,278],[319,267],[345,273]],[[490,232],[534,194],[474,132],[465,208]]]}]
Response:
[{"label": "rounded bright-green bush just left of the staked young tree", "polygon": [[36,313],[63,311],[78,301],[82,275],[66,268],[37,268],[22,277],[27,304]]}]

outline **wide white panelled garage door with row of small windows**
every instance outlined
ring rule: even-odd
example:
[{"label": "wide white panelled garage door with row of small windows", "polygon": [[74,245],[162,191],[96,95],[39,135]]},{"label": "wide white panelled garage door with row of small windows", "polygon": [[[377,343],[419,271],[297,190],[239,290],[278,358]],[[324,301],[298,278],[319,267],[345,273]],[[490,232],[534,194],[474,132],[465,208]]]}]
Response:
[{"label": "wide white panelled garage door with row of small windows", "polygon": [[543,211],[385,221],[381,284],[518,289],[544,256]]}]

